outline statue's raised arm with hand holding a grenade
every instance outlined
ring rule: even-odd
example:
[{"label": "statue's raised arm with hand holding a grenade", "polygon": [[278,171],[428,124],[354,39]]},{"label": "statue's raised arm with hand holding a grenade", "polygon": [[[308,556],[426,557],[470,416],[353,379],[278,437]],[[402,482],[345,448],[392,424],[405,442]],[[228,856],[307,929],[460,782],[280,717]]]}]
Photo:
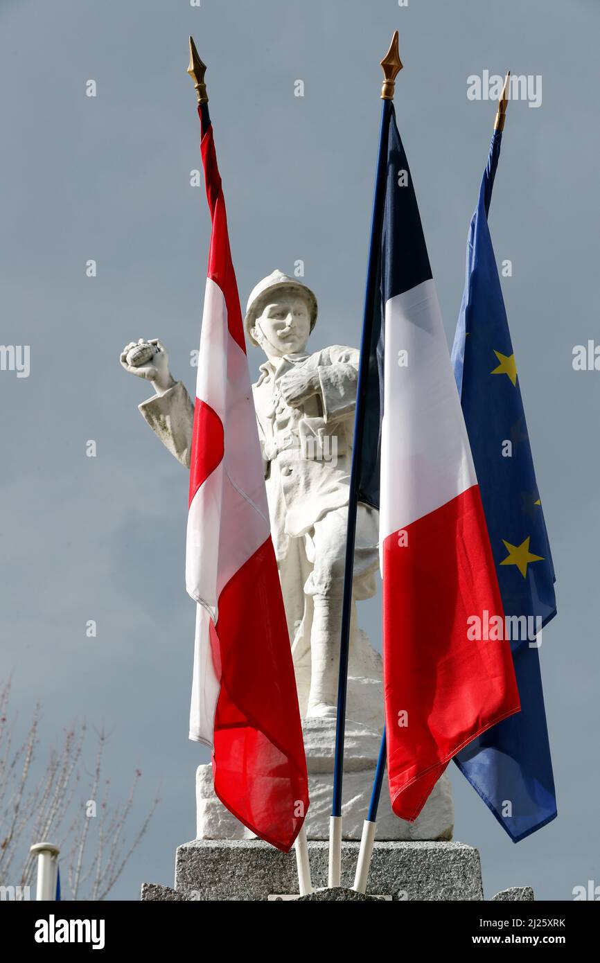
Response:
[{"label": "statue's raised arm with hand holding a grenade", "polygon": [[194,404],[183,382],[171,376],[165,346],[158,338],[131,342],[121,352],[120,363],[125,371],[145,378],[154,386],[154,397],[138,407],[170,454],[189,468]]}]

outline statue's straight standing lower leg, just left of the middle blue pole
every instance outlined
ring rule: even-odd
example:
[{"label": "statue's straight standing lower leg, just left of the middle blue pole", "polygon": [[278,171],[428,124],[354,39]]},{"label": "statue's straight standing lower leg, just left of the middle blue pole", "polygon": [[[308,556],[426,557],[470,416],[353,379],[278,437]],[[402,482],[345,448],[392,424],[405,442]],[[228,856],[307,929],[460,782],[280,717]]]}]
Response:
[{"label": "statue's straight standing lower leg, just left of the middle blue pole", "polygon": [[310,633],[310,691],[306,716],[336,715],[342,596],[313,595]]}]

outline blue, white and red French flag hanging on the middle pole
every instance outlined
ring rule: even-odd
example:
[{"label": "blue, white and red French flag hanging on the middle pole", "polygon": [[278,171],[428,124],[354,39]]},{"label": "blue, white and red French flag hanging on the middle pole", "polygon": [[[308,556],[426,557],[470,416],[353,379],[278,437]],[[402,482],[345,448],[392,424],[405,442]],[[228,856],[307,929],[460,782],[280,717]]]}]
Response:
[{"label": "blue, white and red French flag hanging on the middle pole", "polygon": [[388,111],[380,318],[358,497],[380,512],[387,770],[394,812],[412,821],[452,757],[520,706],[509,642],[467,638],[469,618],[504,612],[391,102]]}]

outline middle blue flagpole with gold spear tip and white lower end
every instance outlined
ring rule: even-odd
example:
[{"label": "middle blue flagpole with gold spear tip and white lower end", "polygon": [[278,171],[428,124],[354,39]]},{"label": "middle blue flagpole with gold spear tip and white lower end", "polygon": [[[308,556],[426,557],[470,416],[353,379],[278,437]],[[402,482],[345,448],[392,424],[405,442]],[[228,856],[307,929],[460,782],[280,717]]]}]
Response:
[{"label": "middle blue flagpole with gold spear tip and white lower end", "polygon": [[395,32],[390,48],[381,61],[384,82],[381,89],[381,124],[379,129],[378,162],[373,198],[371,220],[371,242],[367,263],[367,283],[365,289],[360,361],[356,386],[356,407],[354,412],[354,436],[352,445],[352,470],[348,502],[348,530],[346,541],[346,562],[344,570],[344,596],[342,600],[342,627],[340,638],[340,663],[338,675],[337,716],[335,725],[335,757],[333,764],[333,802],[329,820],[329,868],[328,885],[339,886],[341,879],[342,854],[342,782],[344,774],[344,738],[346,732],[346,696],[348,689],[348,658],[350,652],[350,626],[352,615],[352,573],[354,565],[354,536],[356,533],[356,508],[360,481],[360,463],[364,435],[366,395],[368,386],[369,356],[373,319],[378,304],[378,269],[381,249],[381,227],[385,203],[385,172],[387,161],[387,136],[392,113],[394,81],[402,69],[398,53],[398,31]]}]

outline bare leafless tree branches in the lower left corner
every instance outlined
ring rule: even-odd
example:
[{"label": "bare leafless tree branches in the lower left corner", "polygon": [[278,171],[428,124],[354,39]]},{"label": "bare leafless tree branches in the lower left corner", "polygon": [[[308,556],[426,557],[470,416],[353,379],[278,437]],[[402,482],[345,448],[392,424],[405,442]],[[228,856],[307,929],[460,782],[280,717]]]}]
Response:
[{"label": "bare leafless tree branches in the lower left corner", "polygon": [[[89,735],[84,722],[65,730],[60,749],[50,750],[38,774],[40,707],[35,709],[23,742],[14,748],[16,717],[10,716],[10,695],[11,681],[0,686],[0,885],[11,884],[10,873],[17,861],[21,885],[31,885],[36,857],[29,847],[51,839],[61,847],[64,892],[66,883],[72,899],[106,899],[143,839],[158,794],[128,844],[128,821],[140,769],[135,770],[125,801],[112,804],[110,780],[102,776],[109,736],[104,729],[93,730],[97,745],[94,765],[88,771],[85,748]],[[89,804],[94,811],[87,810]],[[92,849],[94,818],[97,838]]]}]

